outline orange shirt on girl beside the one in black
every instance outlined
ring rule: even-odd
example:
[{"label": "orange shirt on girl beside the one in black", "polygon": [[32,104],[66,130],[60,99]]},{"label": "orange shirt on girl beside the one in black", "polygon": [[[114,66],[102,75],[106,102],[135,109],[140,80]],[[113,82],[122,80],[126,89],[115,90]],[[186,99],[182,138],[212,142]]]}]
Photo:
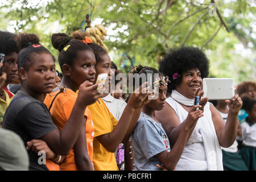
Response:
[{"label": "orange shirt on girl beside the one in black", "polygon": [[[51,105],[53,98],[58,92],[59,91],[47,94],[44,100],[44,104],[46,104],[48,108]],[[66,89],[65,93],[60,93],[53,101],[50,113],[52,115],[52,119],[55,125],[58,127],[59,130],[61,130],[64,127],[65,123],[68,121],[68,118],[71,115],[73,106],[75,105],[76,98],[77,98],[77,93],[73,92],[71,89]],[[86,121],[87,150],[88,150],[90,161],[92,162],[93,161],[92,158],[93,158],[94,126],[92,122],[92,115],[88,107],[86,107],[84,115],[87,117],[87,121]],[[47,162],[46,162],[46,165],[47,165]],[[50,171],[51,169],[52,170],[56,169],[56,166],[54,168],[52,168],[52,166],[53,165],[51,166],[47,165]],[[60,164],[60,168],[63,171],[77,170],[73,148],[69,152],[69,154],[66,156],[66,159],[64,160],[64,162]]]}]

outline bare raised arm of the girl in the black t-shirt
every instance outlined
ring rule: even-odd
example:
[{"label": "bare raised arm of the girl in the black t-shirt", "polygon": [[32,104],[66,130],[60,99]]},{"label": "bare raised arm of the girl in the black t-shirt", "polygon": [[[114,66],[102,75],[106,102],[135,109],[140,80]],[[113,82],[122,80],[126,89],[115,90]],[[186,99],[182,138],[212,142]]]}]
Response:
[{"label": "bare raised arm of the girl in the black t-shirt", "polygon": [[85,81],[80,85],[79,95],[73,106],[71,115],[60,131],[55,129],[40,139],[44,140],[59,155],[68,155],[80,134],[84,122],[84,111],[87,105],[93,104],[101,96],[97,92],[97,84]]}]

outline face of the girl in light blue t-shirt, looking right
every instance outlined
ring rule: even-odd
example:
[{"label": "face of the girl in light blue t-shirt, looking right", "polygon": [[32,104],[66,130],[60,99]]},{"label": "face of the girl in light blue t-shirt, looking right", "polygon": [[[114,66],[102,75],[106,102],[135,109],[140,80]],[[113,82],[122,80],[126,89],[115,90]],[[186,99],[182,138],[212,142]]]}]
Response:
[{"label": "face of the girl in light blue t-shirt, looking right", "polygon": [[147,106],[151,107],[153,110],[162,110],[165,103],[166,103],[166,92],[167,92],[167,86],[161,86],[159,87],[159,95],[156,100],[150,101]]}]

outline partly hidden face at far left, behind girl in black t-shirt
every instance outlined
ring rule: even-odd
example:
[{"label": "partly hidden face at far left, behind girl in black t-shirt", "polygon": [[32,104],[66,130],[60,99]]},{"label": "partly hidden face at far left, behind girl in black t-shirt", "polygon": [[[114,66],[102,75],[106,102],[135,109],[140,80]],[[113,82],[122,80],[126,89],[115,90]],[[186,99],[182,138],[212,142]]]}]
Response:
[{"label": "partly hidden face at far left, behind girl in black t-shirt", "polygon": [[11,52],[5,56],[5,64],[3,65],[3,72],[6,73],[6,84],[19,84],[18,53]]}]

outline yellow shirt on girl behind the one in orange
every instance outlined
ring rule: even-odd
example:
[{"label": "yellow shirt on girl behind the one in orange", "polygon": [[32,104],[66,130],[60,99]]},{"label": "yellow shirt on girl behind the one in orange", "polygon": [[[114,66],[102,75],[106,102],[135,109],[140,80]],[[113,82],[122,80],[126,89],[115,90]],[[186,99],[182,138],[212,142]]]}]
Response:
[{"label": "yellow shirt on girl behind the one in orange", "polygon": [[94,139],[93,139],[93,165],[95,171],[118,171],[117,162],[113,152],[106,150],[98,141],[97,137],[107,133],[111,133],[117,126],[117,119],[110,113],[108,107],[101,98],[88,108],[92,113],[94,124]]}]

